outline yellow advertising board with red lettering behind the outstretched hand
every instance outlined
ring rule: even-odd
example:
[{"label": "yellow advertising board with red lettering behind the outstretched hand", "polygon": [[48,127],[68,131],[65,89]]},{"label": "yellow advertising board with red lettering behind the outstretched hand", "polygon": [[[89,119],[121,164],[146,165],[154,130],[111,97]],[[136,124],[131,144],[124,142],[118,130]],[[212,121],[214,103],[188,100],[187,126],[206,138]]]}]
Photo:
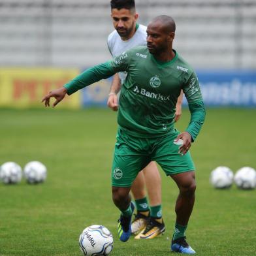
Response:
[{"label": "yellow advertising board with red lettering behind the outstretched hand", "polygon": [[[44,95],[63,86],[79,73],[79,69],[0,68],[0,106],[42,106],[40,100]],[[65,97],[59,107],[79,108],[80,98],[78,91],[71,97]]]}]

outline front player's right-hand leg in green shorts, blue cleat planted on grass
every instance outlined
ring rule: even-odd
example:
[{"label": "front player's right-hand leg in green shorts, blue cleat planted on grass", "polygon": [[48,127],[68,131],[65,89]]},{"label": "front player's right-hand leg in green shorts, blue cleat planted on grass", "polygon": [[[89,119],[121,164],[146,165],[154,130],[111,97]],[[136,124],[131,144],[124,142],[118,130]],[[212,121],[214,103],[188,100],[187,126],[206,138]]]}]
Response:
[{"label": "front player's right-hand leg in green shorts, blue cleat planted on grass", "polygon": [[189,152],[185,155],[178,153],[179,146],[172,143],[176,136],[178,131],[159,139],[152,160],[157,161],[165,174],[172,177],[180,191],[176,201],[177,217],[171,250],[192,254],[195,251],[185,240],[185,229],[195,201],[195,166]]}]

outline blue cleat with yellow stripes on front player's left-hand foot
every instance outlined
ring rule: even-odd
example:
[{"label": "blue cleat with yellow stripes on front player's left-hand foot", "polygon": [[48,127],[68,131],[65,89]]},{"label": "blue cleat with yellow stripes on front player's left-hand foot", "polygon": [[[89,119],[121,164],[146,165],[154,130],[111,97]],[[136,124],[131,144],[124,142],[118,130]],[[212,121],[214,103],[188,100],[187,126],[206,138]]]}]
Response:
[{"label": "blue cleat with yellow stripes on front player's left-hand foot", "polygon": [[135,205],[131,202],[131,216],[125,217],[123,215],[118,219],[118,236],[122,242],[126,242],[131,236],[131,217],[133,216],[133,211],[135,210]]}]

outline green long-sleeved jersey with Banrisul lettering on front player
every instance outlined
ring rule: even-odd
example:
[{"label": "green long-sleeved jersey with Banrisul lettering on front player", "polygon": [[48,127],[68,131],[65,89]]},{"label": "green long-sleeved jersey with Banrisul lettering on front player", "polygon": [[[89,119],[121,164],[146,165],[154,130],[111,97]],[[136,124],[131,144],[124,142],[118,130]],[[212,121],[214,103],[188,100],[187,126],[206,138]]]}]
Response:
[{"label": "green long-sleeved jersey with Banrisul lettering on front player", "polygon": [[[132,136],[155,137],[174,133],[176,102],[183,89],[189,109],[200,108],[190,128],[193,139],[204,121],[204,108],[197,75],[175,52],[165,63],[157,61],[146,46],[137,46],[101,65],[80,74],[65,85],[71,94],[120,71],[127,77],[121,87],[118,124]],[[193,117],[193,115],[192,115]],[[195,127],[196,126],[196,127]]]}]

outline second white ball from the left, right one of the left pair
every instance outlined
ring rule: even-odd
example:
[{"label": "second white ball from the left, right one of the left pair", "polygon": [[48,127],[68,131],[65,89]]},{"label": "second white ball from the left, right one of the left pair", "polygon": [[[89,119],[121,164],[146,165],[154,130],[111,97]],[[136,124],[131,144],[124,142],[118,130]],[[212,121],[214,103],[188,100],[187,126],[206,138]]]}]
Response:
[{"label": "second white ball from the left, right one of the left pair", "polygon": [[24,167],[24,176],[29,184],[39,184],[46,179],[47,169],[39,161],[31,161]]}]

